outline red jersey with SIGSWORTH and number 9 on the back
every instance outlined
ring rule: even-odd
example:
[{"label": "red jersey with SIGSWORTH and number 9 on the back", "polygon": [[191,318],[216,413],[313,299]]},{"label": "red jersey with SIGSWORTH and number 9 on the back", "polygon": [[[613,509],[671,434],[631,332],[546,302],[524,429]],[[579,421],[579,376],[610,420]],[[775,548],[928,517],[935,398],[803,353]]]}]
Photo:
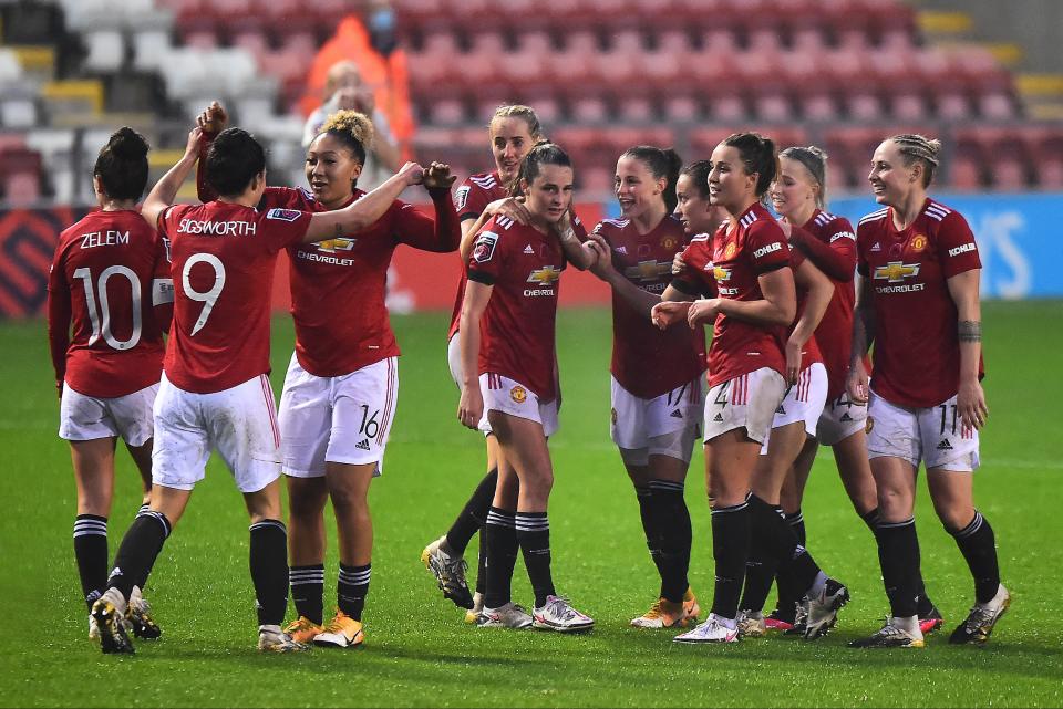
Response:
[{"label": "red jersey with SIGSWORTH and number 9 on the back", "polygon": [[213,201],[158,217],[169,239],[174,325],[163,368],[196,394],[269,372],[269,296],[277,252],[298,243],[311,215]]}]

